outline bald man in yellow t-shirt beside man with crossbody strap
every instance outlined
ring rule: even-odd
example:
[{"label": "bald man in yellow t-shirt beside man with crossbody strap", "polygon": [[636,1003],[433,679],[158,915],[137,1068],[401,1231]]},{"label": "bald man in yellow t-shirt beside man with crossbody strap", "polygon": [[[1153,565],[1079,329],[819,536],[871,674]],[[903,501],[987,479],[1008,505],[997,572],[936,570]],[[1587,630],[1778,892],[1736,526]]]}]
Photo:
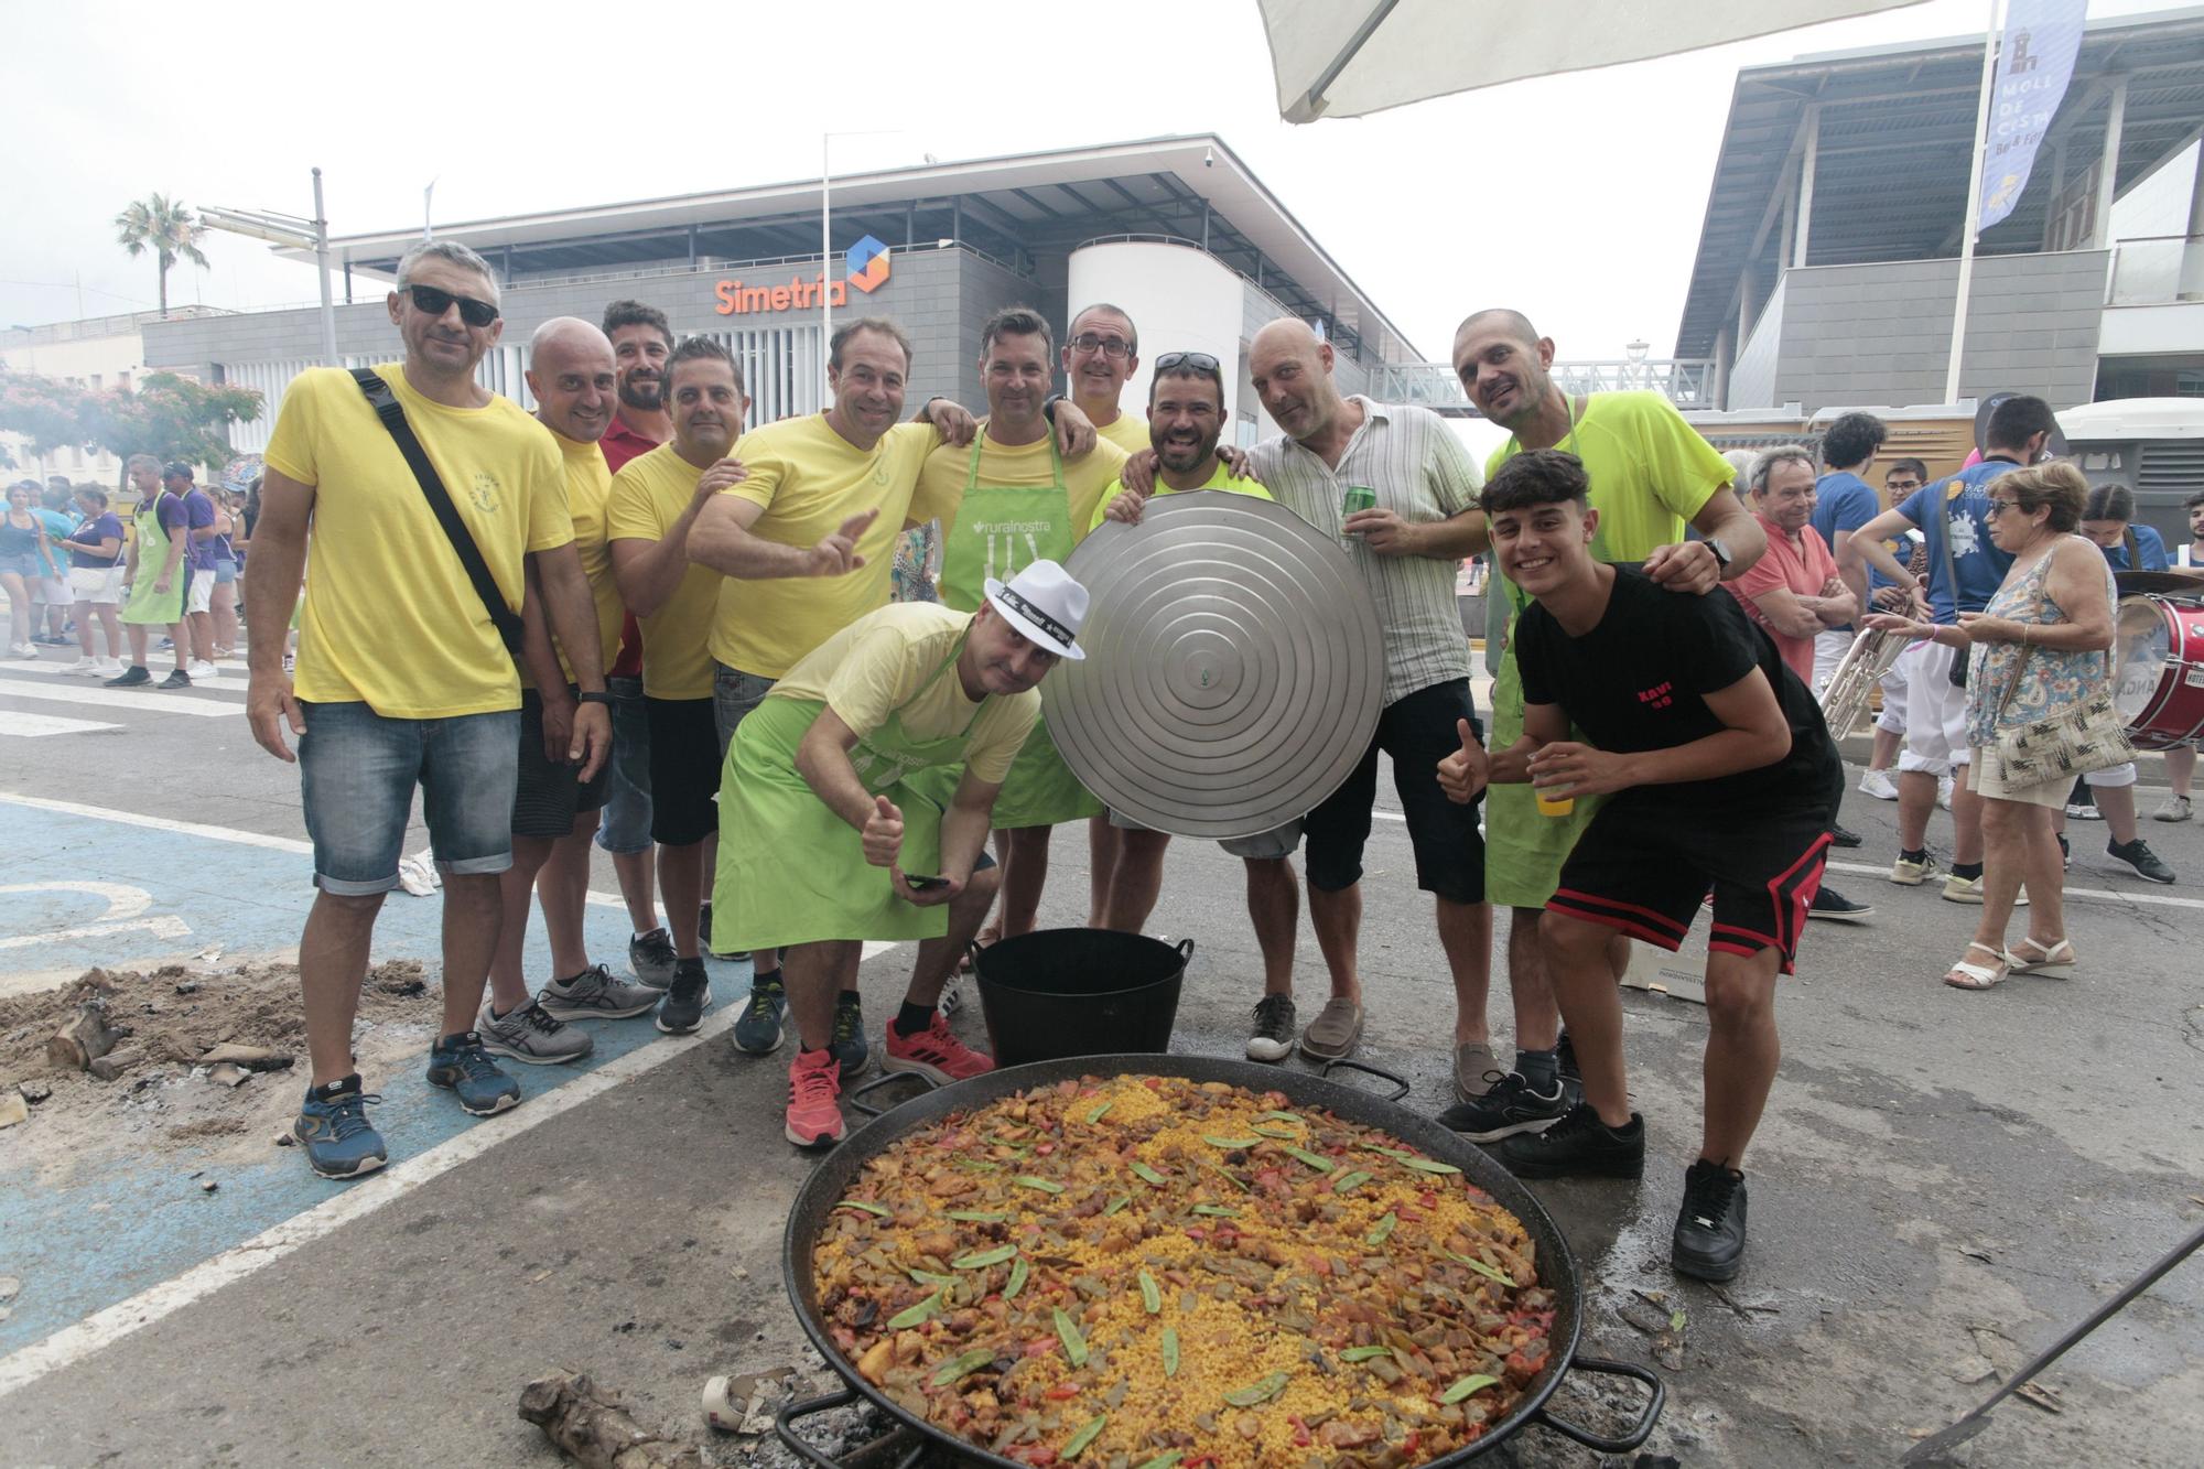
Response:
[{"label": "bald man in yellow t-shirt beside man with crossbody strap", "polygon": [[[551,430],[566,465],[566,514],[584,576],[582,593],[595,607],[593,642],[569,648],[551,635],[540,615],[540,596],[527,602],[527,666],[520,671],[520,785],[514,796],[514,865],[505,873],[505,920],[498,955],[489,966],[489,1001],[483,1008],[483,1046],[500,1057],[533,1065],[580,1061],[593,1041],[569,1019],[624,1019],[659,1001],[644,984],[626,984],[613,971],[588,962],[582,933],[588,900],[588,838],[597,829],[613,785],[613,761],[582,779],[566,759],[566,741],[580,699],[582,671],[599,668],[619,646],[626,609],[613,580],[604,510],[613,472],[597,441],[613,423],[619,368],[613,342],[593,324],[560,315],[529,340],[529,393],[536,421]],[[531,578],[533,587],[533,578]],[[617,741],[617,730],[615,730]],[[617,750],[615,750],[617,754]],[[529,995],[520,951],[529,933],[529,896],[540,893],[544,935],[551,940],[551,982]]]}]

